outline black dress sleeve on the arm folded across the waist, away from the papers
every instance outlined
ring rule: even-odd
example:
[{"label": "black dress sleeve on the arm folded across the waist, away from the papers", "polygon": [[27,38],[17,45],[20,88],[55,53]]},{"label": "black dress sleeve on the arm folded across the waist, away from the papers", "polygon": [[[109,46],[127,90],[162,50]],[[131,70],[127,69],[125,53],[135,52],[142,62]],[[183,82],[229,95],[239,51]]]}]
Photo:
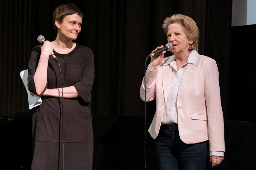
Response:
[{"label": "black dress sleeve on the arm folded across the waist, away from the papers", "polygon": [[91,90],[94,81],[94,55],[91,49],[84,52],[87,53],[87,58],[84,63],[82,78],[74,87],[84,102],[91,102]]}]

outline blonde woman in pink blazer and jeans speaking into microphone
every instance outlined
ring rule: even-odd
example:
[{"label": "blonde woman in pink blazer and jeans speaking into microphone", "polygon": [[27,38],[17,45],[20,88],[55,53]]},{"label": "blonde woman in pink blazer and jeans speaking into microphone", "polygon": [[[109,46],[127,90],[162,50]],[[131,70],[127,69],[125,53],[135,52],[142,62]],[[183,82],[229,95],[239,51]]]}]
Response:
[{"label": "blonde woman in pink blazer and jeans speaking into microphone", "polygon": [[162,27],[173,55],[164,58],[164,51],[151,57],[140,88],[142,100],[145,89],[146,101],[156,99],[148,131],[156,139],[160,169],[205,170],[208,155],[217,166],[225,152],[217,64],[198,54],[199,31],[192,18],[174,14]]}]

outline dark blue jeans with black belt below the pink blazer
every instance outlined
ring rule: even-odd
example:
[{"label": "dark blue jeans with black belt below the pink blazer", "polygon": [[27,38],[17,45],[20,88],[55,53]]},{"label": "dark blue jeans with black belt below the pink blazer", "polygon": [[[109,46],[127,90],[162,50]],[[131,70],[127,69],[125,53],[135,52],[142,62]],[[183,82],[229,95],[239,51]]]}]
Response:
[{"label": "dark blue jeans with black belt below the pink blazer", "polygon": [[156,154],[161,170],[206,170],[209,141],[185,144],[178,130],[160,130],[156,138]]}]

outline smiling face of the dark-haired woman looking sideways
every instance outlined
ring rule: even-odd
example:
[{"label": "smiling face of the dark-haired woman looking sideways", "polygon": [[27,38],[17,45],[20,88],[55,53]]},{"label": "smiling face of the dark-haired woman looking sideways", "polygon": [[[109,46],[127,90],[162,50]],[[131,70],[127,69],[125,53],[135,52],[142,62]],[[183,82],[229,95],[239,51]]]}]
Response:
[{"label": "smiling face of the dark-haired woman looking sideways", "polygon": [[61,22],[55,21],[55,25],[58,28],[60,38],[76,40],[81,31],[82,17],[77,14],[67,15]]}]

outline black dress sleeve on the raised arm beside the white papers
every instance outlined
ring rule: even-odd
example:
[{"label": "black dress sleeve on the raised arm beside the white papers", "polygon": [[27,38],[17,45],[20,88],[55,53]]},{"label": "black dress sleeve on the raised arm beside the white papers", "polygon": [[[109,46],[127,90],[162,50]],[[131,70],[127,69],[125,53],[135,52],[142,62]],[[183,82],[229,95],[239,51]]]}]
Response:
[{"label": "black dress sleeve on the raised arm beside the white papers", "polygon": [[[32,49],[30,60],[28,63],[28,90],[36,95],[38,95],[38,94],[36,93],[34,74],[36,72],[38,61],[39,61],[39,58],[41,55],[41,48],[40,48],[41,46],[42,45],[38,45]],[[45,89],[46,89],[46,87],[44,88],[44,91],[45,91]]]}]

